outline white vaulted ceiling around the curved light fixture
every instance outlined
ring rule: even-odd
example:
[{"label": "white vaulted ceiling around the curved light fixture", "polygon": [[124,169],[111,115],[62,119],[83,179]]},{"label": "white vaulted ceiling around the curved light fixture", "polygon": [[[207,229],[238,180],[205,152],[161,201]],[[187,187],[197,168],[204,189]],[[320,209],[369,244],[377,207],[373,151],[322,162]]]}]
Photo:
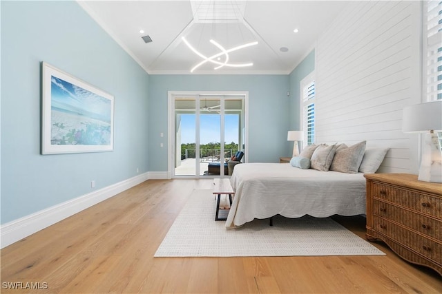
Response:
[{"label": "white vaulted ceiling around the curved light fixture", "polygon": [[[193,2],[78,3],[148,74],[191,74],[191,68],[203,59],[186,46],[182,36],[204,56],[221,52],[209,39],[215,39],[226,50],[258,41],[258,45],[229,53],[228,63],[253,63],[253,66],[224,66],[214,70],[217,65],[206,62],[193,74],[289,74],[348,3],[217,0],[213,5],[213,0]],[[204,11],[206,14],[200,14]],[[215,26],[213,18],[218,19]],[[224,21],[226,18],[229,20]],[[295,28],[299,32],[295,33]],[[151,43],[143,41],[142,36],[146,35],[153,40]],[[280,50],[283,47],[287,52]],[[223,63],[225,55],[220,57],[219,62]]]}]

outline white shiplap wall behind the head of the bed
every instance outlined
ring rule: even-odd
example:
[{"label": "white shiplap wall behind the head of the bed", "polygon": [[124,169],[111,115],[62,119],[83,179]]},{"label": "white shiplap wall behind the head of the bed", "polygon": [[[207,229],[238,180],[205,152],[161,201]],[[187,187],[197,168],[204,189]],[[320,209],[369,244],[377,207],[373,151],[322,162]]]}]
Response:
[{"label": "white shiplap wall behind the head of the bed", "polygon": [[421,102],[421,3],[349,3],[316,46],[316,143],[390,147],[378,172],[414,173],[417,135],[402,109]]}]

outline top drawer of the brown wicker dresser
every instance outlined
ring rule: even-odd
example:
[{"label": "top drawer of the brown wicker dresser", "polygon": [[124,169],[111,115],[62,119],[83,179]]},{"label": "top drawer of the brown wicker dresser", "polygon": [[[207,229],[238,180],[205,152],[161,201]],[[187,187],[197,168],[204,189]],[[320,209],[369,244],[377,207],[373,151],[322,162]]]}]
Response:
[{"label": "top drawer of the brown wicker dresser", "polygon": [[374,182],[373,197],[396,203],[400,206],[442,218],[442,199],[398,187]]}]

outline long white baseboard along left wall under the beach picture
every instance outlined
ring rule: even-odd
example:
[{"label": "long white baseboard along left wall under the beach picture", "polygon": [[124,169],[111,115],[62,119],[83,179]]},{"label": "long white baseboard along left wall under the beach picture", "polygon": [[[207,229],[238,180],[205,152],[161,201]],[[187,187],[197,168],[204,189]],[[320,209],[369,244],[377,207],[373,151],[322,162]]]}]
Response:
[{"label": "long white baseboard along left wall under the beach picture", "polygon": [[134,187],[148,180],[150,176],[150,173],[140,174],[139,176],[123,180],[122,182],[117,182],[114,185],[87,193],[53,207],[48,207],[47,209],[37,211],[36,213],[24,216],[23,218],[13,220],[12,222],[2,224],[0,228],[1,248],[26,238],[28,235],[32,235],[60,220],[73,216],[75,213],[111,198],[122,191]]}]

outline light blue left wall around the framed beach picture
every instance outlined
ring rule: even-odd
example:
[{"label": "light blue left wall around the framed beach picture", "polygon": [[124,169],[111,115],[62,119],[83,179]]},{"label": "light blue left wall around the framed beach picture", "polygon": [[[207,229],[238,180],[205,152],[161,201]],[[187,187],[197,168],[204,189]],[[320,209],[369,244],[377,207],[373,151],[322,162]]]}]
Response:
[{"label": "light blue left wall around the framed beach picture", "polygon": [[[115,97],[113,152],[40,155],[41,61]],[[1,223],[148,171],[148,74],[75,1],[1,1]]]}]

